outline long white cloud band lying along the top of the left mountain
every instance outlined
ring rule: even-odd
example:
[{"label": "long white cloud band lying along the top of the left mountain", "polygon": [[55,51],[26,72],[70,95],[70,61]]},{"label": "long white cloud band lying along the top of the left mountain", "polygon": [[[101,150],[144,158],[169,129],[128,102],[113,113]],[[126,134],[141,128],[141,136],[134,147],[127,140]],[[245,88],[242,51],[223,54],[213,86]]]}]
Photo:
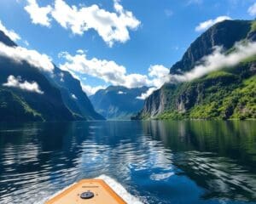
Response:
[{"label": "long white cloud band lying along the top of the left mountain", "polygon": [[0,42],[0,56],[15,60],[17,63],[26,61],[41,71],[53,71],[54,65],[46,54],[39,54],[36,50],[21,47],[9,47]]}]

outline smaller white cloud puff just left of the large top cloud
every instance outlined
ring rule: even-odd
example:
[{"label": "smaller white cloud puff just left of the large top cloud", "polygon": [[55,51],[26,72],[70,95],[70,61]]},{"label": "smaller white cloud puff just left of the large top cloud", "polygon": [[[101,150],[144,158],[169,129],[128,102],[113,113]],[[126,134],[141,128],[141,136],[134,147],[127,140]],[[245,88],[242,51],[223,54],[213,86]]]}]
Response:
[{"label": "smaller white cloud puff just left of the large top cloud", "polygon": [[39,7],[36,0],[27,0],[25,10],[30,14],[33,24],[50,26],[50,18],[48,15],[52,11],[52,8],[49,5],[46,7]]}]

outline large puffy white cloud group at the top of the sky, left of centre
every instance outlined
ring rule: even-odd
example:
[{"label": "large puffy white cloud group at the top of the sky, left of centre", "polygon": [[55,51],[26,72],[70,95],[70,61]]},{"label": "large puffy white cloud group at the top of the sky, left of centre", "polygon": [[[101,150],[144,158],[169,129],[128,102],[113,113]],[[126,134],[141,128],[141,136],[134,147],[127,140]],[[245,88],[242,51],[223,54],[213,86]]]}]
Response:
[{"label": "large puffy white cloud group at the top of the sky, left of centre", "polygon": [[73,34],[83,35],[90,29],[95,30],[108,46],[114,42],[126,42],[130,39],[129,29],[136,30],[140,21],[123,8],[118,0],[113,1],[114,12],[108,12],[91,6],[68,5],[64,0],[55,0],[54,8],[49,5],[39,7],[36,0],[27,0],[26,11],[31,15],[32,22],[43,26],[50,26],[49,14],[63,28],[70,29]]}]

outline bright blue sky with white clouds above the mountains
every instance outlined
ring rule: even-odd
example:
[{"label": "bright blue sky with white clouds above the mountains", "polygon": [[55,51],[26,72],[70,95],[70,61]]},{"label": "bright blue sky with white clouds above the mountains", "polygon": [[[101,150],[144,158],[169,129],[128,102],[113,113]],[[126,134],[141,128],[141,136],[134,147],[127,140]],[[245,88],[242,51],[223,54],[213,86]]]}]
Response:
[{"label": "bright blue sky with white clouds above the mountains", "polygon": [[[55,65],[79,77],[84,90],[91,94],[96,87],[111,84],[159,87],[161,78],[204,28],[219,16],[223,16],[220,20],[252,20],[256,15],[254,3],[255,0],[8,0],[0,1],[0,20],[20,36],[20,46],[49,55]],[[69,9],[66,13],[64,7]],[[86,11],[80,12],[83,9]],[[80,20],[84,21],[79,24]],[[84,22],[89,28],[84,28]],[[110,29],[107,34],[106,29]]]}]

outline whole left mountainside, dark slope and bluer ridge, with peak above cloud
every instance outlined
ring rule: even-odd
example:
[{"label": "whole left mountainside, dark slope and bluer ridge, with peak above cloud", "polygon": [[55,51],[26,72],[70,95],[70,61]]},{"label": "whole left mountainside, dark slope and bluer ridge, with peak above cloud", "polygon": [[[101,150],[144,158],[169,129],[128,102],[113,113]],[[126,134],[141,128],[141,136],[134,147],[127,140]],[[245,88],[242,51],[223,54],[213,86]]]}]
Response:
[{"label": "whole left mountainside, dark slope and bluer ridge, with peak above cloud", "polygon": [[[0,42],[17,46],[3,31]],[[24,90],[26,86],[34,91]],[[4,122],[104,120],[94,110],[80,82],[69,72],[55,66],[49,74],[26,60],[18,63],[3,56],[0,57],[0,116]]]}]

